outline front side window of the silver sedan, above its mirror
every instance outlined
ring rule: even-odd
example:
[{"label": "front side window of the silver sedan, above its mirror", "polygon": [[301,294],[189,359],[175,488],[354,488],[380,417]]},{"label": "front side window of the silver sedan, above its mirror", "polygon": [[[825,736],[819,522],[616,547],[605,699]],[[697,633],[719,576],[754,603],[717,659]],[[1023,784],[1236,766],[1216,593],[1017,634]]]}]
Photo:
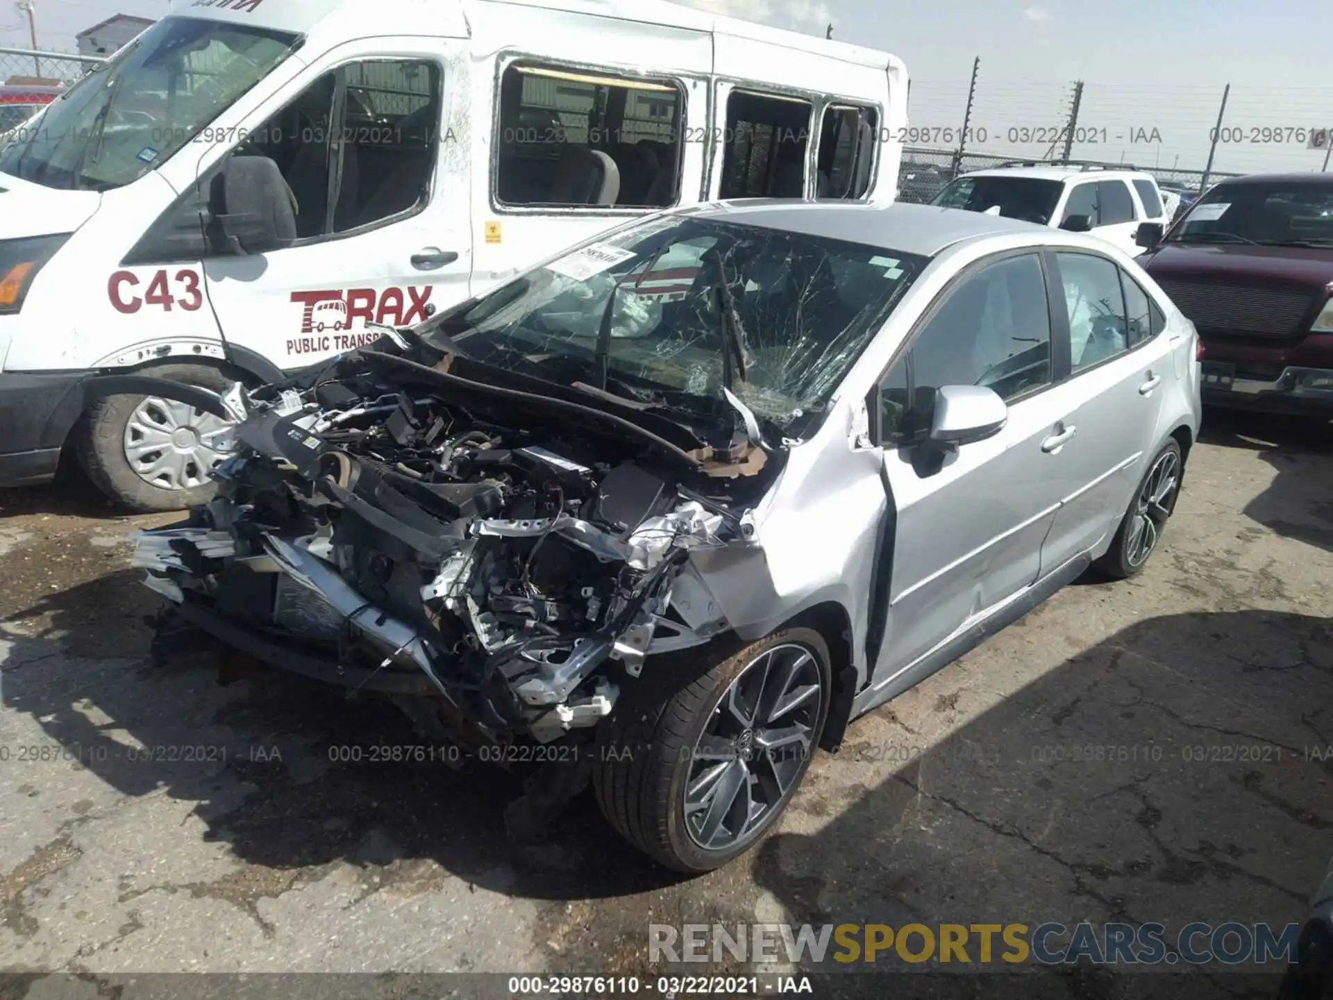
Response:
[{"label": "front side window of the silver sedan, above its mirror", "polygon": [[986,385],[1012,400],[1050,381],[1050,312],[1041,263],[990,264],[946,293],[884,383],[884,429],[930,425],[941,385]]}]

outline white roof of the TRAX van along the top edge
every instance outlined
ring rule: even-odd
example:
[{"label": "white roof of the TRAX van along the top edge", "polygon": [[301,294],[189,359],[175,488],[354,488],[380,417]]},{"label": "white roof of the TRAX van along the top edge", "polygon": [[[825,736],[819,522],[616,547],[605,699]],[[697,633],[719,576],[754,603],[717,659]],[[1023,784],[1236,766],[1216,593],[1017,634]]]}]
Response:
[{"label": "white roof of the TRAX van along the top edge", "polygon": [[669,0],[451,0],[449,4],[440,0],[193,0],[188,7],[179,5],[175,16],[253,24],[300,35],[311,33],[333,17],[360,20],[364,16],[367,24],[373,25],[365,35],[385,35],[416,33],[432,25],[439,29],[441,23],[451,20],[449,15],[465,19],[469,11],[481,7],[525,7],[639,24],[668,24],[686,31],[753,39],[876,69],[902,65],[886,52],[713,15]]}]

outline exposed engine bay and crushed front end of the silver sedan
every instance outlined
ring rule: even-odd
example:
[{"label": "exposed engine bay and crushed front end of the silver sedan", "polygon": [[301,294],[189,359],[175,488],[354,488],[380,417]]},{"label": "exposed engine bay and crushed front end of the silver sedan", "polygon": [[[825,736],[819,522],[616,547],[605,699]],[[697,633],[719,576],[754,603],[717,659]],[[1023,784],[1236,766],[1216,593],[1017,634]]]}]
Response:
[{"label": "exposed engine bay and crushed front end of the silver sedan", "polygon": [[692,425],[392,332],[212,401],[217,497],[135,564],[192,628],[423,735],[587,739],[651,655],[728,628],[690,556],[753,544],[782,456],[729,399]]}]

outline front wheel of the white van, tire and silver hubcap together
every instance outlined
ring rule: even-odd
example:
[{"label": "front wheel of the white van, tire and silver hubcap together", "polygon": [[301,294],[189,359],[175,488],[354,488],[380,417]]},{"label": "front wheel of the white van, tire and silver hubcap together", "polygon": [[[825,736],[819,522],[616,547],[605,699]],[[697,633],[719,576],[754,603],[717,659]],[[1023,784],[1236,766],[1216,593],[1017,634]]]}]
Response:
[{"label": "front wheel of the white van, tire and silver hubcap together", "polygon": [[[225,392],[235,379],[216,368],[167,364],[139,375]],[[104,396],[89,408],[76,437],[88,477],[137,513],[183,511],[216,492],[209,471],[228,457],[219,441],[235,423],[157,396]]]}]

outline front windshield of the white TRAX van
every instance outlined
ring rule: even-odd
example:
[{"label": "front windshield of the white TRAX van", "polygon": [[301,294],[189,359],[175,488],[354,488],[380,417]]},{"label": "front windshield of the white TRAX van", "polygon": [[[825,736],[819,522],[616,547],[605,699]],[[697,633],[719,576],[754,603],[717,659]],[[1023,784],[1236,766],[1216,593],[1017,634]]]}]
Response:
[{"label": "front windshield of the white TRAX van", "polygon": [[268,76],[299,36],[165,17],[0,140],[0,172],[49,188],[131,184]]}]

